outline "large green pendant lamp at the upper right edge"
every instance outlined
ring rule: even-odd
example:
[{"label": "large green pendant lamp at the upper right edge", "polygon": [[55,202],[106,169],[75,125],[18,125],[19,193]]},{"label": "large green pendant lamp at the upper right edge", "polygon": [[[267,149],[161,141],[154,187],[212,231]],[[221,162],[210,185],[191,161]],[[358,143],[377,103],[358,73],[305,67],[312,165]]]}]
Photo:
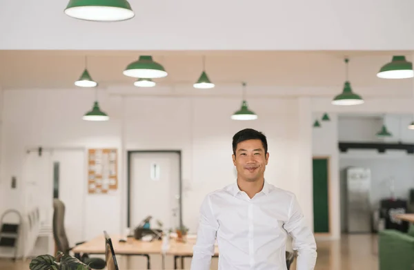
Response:
[{"label": "large green pendant lamp at the upper right edge", "polygon": [[414,77],[413,64],[406,61],[402,55],[395,55],[388,64],[385,64],[377,73],[382,79],[407,79]]}]

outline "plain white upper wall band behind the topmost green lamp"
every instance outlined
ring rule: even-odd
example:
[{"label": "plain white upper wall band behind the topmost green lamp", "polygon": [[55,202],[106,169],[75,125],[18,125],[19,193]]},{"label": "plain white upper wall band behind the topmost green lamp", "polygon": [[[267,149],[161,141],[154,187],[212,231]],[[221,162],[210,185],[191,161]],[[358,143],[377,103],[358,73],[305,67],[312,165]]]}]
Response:
[{"label": "plain white upper wall band behind the topmost green lamp", "polygon": [[2,1],[0,49],[412,50],[414,46],[414,37],[406,35],[414,26],[411,1],[397,5],[386,0],[259,5],[237,0],[210,0],[208,5],[193,0],[129,1],[136,16],[119,23],[72,19],[63,13],[68,1],[43,0],[42,5],[32,0]]}]

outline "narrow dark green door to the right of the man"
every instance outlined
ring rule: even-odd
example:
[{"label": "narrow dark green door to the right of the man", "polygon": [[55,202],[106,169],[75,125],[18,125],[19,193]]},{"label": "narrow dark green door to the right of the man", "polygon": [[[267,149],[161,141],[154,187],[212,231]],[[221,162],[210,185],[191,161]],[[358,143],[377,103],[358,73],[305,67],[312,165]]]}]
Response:
[{"label": "narrow dark green door to the right of the man", "polygon": [[313,228],[329,233],[328,158],[313,158]]}]

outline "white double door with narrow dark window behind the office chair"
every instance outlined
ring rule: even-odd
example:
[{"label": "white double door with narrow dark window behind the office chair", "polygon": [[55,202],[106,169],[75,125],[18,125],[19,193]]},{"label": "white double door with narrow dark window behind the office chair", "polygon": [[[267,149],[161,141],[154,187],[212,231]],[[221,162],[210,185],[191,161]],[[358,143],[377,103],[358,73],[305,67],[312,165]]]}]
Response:
[{"label": "white double door with narrow dark window behind the office chair", "polygon": [[84,240],[86,152],[51,149],[30,152],[24,163],[25,209],[39,206],[41,225],[52,228],[53,198],[65,204],[65,230],[70,247]]}]

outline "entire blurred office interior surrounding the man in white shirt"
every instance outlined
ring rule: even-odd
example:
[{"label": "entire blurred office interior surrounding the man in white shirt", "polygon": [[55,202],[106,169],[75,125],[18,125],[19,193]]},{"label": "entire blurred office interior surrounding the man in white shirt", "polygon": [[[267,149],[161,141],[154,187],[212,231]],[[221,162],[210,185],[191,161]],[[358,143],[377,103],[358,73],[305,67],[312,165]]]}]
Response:
[{"label": "entire blurred office interior surrounding the man in white shirt", "polygon": [[414,266],[395,216],[414,212],[413,3],[113,0],[128,18],[88,21],[63,2],[0,3],[0,270],[63,240],[106,269],[103,231],[119,269],[190,269],[242,128],[267,136],[266,181],[297,196],[316,270]]}]

